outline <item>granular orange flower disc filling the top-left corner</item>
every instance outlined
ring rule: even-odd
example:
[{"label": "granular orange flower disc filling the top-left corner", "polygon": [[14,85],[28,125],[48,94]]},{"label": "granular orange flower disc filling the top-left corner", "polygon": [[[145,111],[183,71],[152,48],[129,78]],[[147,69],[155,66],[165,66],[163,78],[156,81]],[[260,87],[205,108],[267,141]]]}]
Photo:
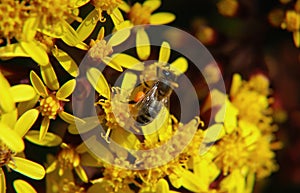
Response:
[{"label": "granular orange flower disc filling the top-left corner", "polygon": [[4,0],[0,4],[0,38],[8,43],[12,38],[21,38],[22,28],[28,18],[28,7],[25,1]]}]

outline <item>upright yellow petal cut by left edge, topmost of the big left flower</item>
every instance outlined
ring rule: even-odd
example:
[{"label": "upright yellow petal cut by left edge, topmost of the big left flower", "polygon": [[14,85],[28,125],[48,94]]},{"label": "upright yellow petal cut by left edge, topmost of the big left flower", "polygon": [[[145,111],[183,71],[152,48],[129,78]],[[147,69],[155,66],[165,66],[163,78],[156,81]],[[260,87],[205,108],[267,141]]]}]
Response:
[{"label": "upright yellow petal cut by left edge, topmost of the big left flower", "polygon": [[10,85],[0,72],[0,110],[2,113],[10,112],[15,108],[13,97],[10,93]]}]

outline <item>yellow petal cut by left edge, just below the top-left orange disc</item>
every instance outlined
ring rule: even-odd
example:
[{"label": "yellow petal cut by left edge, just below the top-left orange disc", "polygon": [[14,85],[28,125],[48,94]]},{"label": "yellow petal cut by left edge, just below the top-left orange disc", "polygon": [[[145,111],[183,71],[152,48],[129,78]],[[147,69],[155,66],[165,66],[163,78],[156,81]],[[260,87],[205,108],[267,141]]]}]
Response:
[{"label": "yellow petal cut by left edge, just below the top-left orange disc", "polygon": [[0,48],[0,58],[30,57],[20,43],[9,44]]}]

